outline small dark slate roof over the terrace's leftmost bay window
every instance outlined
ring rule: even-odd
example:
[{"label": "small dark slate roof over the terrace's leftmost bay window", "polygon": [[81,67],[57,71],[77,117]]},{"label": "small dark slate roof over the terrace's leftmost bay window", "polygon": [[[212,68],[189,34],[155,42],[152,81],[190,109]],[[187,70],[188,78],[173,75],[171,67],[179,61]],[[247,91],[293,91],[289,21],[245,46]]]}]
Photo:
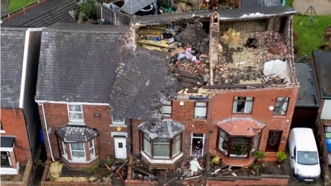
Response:
[{"label": "small dark slate roof over the terrace's leftmost bay window", "polygon": [[99,136],[99,131],[82,125],[65,125],[57,128],[57,136],[64,143],[88,142]]}]

